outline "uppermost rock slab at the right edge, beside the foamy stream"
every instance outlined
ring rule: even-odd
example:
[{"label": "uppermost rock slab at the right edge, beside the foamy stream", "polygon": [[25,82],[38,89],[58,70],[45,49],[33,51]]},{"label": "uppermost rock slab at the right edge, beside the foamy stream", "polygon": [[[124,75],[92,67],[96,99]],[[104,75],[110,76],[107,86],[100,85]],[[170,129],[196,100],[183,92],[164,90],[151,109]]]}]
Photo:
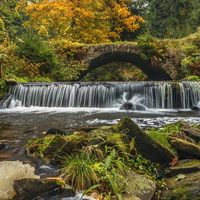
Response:
[{"label": "uppermost rock slab at the right edge, beside the foamy stream", "polygon": [[190,126],[187,122],[180,123],[180,131],[183,131],[186,135],[194,139],[197,143],[200,141],[200,130],[198,128]]}]

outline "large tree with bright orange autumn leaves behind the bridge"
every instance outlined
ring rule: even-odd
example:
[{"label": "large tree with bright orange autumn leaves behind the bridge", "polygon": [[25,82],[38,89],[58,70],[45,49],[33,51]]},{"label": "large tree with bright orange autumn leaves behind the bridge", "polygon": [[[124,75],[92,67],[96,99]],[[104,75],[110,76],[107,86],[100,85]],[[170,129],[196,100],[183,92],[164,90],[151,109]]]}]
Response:
[{"label": "large tree with bright orange autumn leaves behind the bridge", "polygon": [[50,39],[101,43],[121,39],[124,30],[134,32],[143,18],[131,15],[130,0],[40,0],[29,3],[25,25]]}]

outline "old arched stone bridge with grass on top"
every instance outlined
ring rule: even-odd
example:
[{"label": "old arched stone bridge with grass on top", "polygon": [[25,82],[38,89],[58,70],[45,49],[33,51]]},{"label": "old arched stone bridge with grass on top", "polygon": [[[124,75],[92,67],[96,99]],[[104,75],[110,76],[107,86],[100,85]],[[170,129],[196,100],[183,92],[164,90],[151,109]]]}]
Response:
[{"label": "old arched stone bridge with grass on top", "polygon": [[136,43],[131,42],[87,45],[86,53],[81,56],[81,60],[87,63],[87,69],[80,72],[78,80],[81,80],[90,71],[114,61],[135,65],[152,81],[180,80],[182,78],[180,62],[175,59],[177,56],[174,52],[169,53],[162,60],[153,60],[152,58],[145,60],[142,58],[141,53],[145,54]]}]

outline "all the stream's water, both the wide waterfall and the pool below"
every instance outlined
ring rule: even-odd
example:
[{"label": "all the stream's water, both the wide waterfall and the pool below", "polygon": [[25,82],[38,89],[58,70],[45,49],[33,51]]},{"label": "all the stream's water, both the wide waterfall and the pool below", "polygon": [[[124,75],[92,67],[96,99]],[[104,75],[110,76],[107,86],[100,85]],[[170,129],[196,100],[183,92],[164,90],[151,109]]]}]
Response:
[{"label": "all the stream's water, both the wide waterfall and the pool below", "polygon": [[[146,110],[120,110],[127,101]],[[5,144],[0,161],[26,161],[37,174],[52,175],[45,161],[25,152],[27,140],[43,137],[49,128],[113,125],[124,116],[143,129],[179,120],[200,124],[200,111],[191,110],[199,101],[200,82],[18,84],[0,109],[0,143]]]}]

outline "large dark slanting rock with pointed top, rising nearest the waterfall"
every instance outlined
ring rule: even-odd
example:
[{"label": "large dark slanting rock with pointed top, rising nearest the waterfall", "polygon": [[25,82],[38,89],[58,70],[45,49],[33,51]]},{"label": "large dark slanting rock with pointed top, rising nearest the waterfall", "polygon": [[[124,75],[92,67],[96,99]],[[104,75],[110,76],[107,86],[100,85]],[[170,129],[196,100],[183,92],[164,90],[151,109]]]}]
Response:
[{"label": "large dark slanting rock with pointed top, rising nearest the waterfall", "polygon": [[152,139],[129,117],[123,117],[118,124],[112,126],[115,132],[124,132],[135,140],[135,148],[143,157],[152,162],[168,164],[176,156],[172,151]]}]

